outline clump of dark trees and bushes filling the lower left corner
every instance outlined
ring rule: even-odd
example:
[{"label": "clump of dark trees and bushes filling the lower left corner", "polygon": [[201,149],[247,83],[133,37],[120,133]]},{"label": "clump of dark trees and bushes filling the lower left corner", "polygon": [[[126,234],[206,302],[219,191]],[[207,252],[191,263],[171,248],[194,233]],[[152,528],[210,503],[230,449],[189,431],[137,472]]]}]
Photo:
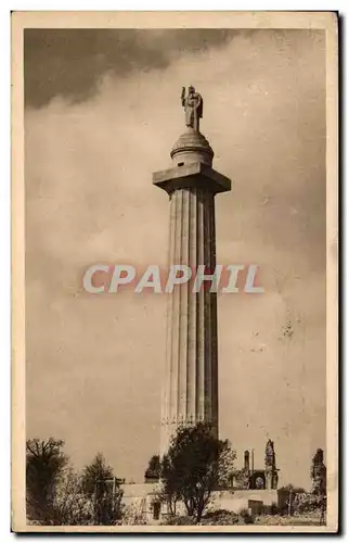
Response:
[{"label": "clump of dark trees and bushes filling the lower left corner", "polygon": [[76,473],[63,452],[64,442],[28,440],[26,502],[28,520],[42,526],[116,525],[122,492],[101,453]]}]

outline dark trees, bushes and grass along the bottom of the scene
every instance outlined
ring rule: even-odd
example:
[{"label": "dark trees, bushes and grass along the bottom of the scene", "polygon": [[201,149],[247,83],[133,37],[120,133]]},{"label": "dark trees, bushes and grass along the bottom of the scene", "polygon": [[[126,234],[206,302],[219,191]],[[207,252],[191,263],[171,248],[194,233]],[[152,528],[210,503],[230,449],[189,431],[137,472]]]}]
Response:
[{"label": "dark trees, bushes and grass along the bottom of the scene", "polygon": [[[173,526],[294,525],[325,522],[326,467],[323,451],[312,458],[311,492],[287,484],[279,489],[279,504],[269,514],[253,515],[215,508],[214,492],[246,477],[234,471],[235,452],[229,441],[215,437],[209,425],[181,427],[160,460],[153,455],[145,479],[160,481],[157,505],[167,505],[163,523]],[[42,526],[142,525],[146,519],[132,504],[122,506],[121,480],[102,453],[76,472],[64,452],[64,441],[33,439],[26,443],[26,501],[28,521]]]}]

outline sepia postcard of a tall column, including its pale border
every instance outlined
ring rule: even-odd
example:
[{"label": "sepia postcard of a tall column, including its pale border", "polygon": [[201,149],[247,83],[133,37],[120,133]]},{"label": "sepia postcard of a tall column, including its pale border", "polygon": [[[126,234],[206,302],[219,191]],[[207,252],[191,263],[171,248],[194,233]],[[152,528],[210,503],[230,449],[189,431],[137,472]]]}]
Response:
[{"label": "sepia postcard of a tall column, including its pale border", "polygon": [[12,13],[12,529],[337,532],[334,12]]}]

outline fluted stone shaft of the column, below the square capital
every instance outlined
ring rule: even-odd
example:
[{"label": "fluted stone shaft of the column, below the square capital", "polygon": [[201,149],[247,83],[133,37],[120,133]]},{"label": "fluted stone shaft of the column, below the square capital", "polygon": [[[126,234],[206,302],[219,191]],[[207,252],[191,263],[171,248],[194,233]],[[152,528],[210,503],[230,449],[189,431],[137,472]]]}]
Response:
[{"label": "fluted stone shaft of the column, below the square capital", "polygon": [[[189,266],[195,278],[216,267],[215,195],[183,188],[170,197],[169,265]],[[161,454],[178,426],[206,421],[218,434],[217,296],[210,282],[193,293],[194,279],[168,294]]]}]

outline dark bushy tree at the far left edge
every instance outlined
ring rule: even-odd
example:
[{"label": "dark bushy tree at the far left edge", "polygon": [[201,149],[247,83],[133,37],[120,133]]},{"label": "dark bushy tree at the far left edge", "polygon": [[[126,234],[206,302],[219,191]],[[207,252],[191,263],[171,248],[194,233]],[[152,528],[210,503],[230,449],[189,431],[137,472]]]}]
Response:
[{"label": "dark bushy tree at the far left edge", "polygon": [[54,438],[26,442],[27,516],[41,525],[52,522],[57,485],[68,463],[63,446],[64,441]]}]

